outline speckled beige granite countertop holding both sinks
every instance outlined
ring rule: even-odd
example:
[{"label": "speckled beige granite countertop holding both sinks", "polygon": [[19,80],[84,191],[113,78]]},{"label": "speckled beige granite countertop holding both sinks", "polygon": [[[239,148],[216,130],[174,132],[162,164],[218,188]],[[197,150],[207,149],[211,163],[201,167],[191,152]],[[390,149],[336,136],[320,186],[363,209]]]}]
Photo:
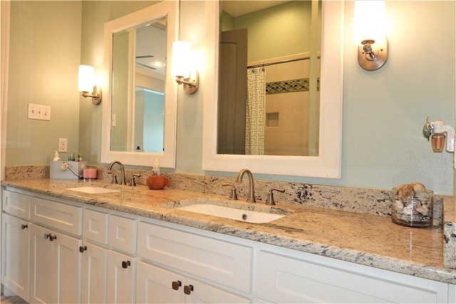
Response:
[{"label": "speckled beige granite countertop holding both sinks", "polygon": [[[252,224],[172,208],[190,201],[204,201],[204,198],[222,199],[226,204],[233,204],[226,196],[176,189],[155,191],[142,185],[128,187],[105,184],[103,181],[90,183],[77,180],[27,179],[4,181],[2,185],[456,284],[456,270],[443,266],[442,229],[399,226],[393,224],[387,216],[283,204],[279,201],[272,207],[261,203],[248,204],[241,199],[236,201],[234,204],[242,204],[246,209],[289,213],[269,223]],[[67,189],[88,185],[117,187],[122,191],[85,194]]]}]

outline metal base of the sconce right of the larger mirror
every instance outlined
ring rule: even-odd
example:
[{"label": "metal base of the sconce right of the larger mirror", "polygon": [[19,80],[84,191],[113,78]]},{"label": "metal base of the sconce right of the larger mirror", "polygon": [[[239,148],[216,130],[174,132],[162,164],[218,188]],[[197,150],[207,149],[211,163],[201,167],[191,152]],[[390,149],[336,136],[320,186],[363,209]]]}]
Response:
[{"label": "metal base of the sconce right of the larger mirror", "polygon": [[388,59],[388,41],[365,40],[358,46],[358,63],[364,70],[378,70]]}]

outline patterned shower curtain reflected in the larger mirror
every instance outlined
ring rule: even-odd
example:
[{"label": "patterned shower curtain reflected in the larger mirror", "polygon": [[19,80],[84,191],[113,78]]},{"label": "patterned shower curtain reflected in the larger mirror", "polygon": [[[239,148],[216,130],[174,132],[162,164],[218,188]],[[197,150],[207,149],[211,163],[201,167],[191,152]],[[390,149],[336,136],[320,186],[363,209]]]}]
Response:
[{"label": "patterned shower curtain reflected in the larger mirror", "polygon": [[245,154],[264,154],[266,71],[247,69]]}]

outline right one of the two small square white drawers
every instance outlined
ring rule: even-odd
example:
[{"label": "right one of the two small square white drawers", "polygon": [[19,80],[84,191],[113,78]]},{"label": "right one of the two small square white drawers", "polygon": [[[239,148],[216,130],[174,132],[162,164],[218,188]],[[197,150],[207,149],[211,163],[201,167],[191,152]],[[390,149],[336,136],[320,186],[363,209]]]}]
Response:
[{"label": "right one of the two small square white drawers", "polygon": [[136,220],[109,215],[108,245],[128,253],[136,252]]}]

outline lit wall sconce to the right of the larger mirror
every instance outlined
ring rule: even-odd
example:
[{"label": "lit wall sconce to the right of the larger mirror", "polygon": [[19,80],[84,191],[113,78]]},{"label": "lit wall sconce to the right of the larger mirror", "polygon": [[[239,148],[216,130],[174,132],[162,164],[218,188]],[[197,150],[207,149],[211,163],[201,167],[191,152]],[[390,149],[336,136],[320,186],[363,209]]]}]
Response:
[{"label": "lit wall sconce to the right of the larger mirror", "polygon": [[355,1],[353,38],[358,44],[358,63],[361,68],[378,70],[385,64],[388,59],[385,1]]}]

